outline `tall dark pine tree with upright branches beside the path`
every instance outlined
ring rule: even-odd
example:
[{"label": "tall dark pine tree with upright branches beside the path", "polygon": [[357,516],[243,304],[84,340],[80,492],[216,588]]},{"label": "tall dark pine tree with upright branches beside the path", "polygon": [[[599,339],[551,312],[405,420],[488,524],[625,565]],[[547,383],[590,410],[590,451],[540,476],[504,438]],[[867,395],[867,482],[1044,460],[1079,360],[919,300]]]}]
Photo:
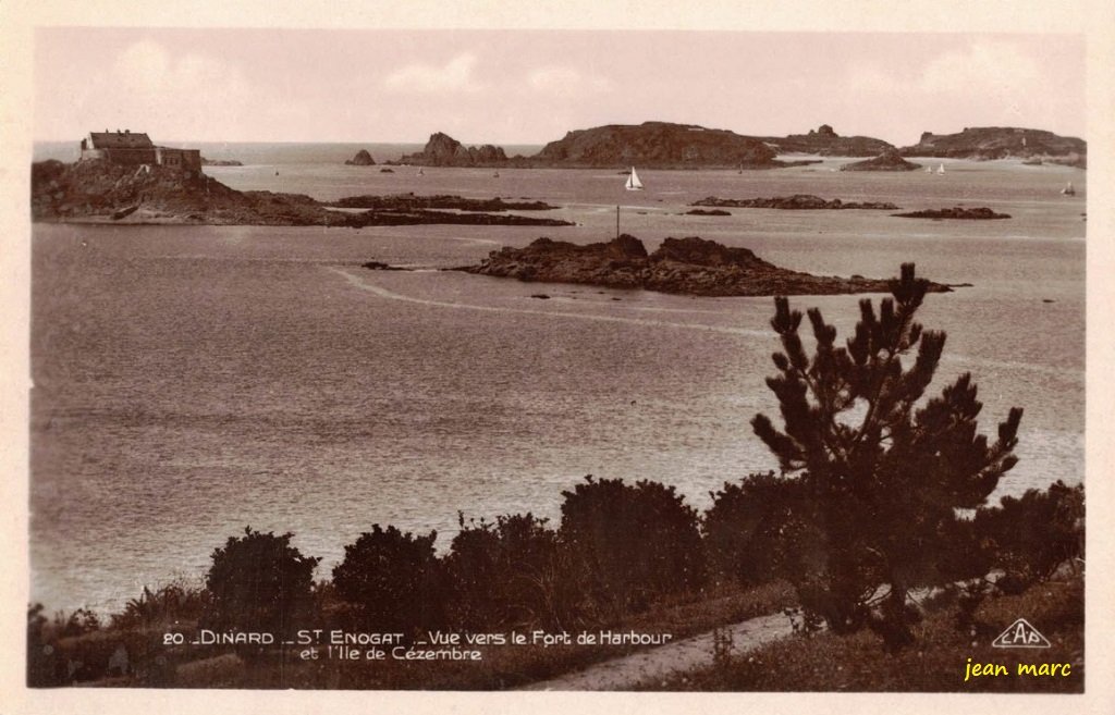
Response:
[{"label": "tall dark pine tree with upright branches beside the path", "polygon": [[[770,325],[783,352],[767,385],[784,427],[757,414],[755,433],[778,458],[784,474],[804,487],[789,529],[797,549],[796,582],[803,605],[835,631],[872,623],[874,594],[889,585],[881,626],[889,645],[911,639],[911,587],[948,572],[957,509],[973,509],[1015,466],[1022,411],[1012,408],[998,440],[978,434],[981,403],[970,374],[918,407],[933,380],[946,335],[923,331],[914,314],[929,282],[903,264],[892,297],[860,302],[860,321],[846,347],[817,308],[808,311],[816,347],[806,355],[802,313],[775,298]],[[903,358],[917,351],[913,364]]]}]

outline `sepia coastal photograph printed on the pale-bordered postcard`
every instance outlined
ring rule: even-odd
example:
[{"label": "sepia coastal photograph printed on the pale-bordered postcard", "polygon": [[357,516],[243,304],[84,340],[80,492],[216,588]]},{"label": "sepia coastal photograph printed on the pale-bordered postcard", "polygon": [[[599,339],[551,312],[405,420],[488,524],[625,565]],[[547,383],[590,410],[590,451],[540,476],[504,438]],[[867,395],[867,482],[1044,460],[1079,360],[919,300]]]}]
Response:
[{"label": "sepia coastal photograph printed on the pale-bordered postcard", "polygon": [[1083,706],[1087,28],[676,25],[29,29],[32,698]]}]

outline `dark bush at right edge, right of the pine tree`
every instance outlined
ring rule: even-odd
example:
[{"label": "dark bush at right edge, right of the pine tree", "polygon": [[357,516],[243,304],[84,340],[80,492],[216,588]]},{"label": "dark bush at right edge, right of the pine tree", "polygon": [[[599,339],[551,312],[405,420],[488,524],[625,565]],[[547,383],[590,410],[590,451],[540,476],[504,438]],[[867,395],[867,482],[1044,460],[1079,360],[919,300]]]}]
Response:
[{"label": "dark bush at right edge, right of the pine tree", "polygon": [[1004,497],[998,508],[976,511],[975,531],[987,560],[1005,571],[999,588],[1019,594],[1084,557],[1084,486],[1058,480],[1044,491]]}]

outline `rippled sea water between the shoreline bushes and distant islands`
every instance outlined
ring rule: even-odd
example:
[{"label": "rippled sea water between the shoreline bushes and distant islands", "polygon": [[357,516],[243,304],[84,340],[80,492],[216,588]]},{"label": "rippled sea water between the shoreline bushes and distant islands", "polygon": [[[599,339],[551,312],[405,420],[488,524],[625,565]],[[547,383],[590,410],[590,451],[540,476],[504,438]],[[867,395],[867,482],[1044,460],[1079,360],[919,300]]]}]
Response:
[{"label": "rippled sea water between the shoreline bushes and distant islands", "polygon": [[[32,235],[32,600],[118,608],[197,579],[245,526],[293,532],[327,578],[374,523],[438,532],[531,511],[556,520],[585,474],[709,491],[776,469],[749,420],[778,349],[769,297],[527,284],[437,268],[547,235],[620,228],[653,251],[697,235],[825,275],[946,283],[920,314],[948,333],[930,389],[971,372],[981,431],[1025,408],[1018,466],[992,498],[1084,476],[1084,173],[946,161],[944,175],[209,167],[234,188],[542,199],[572,227],[46,225]],[[939,160],[933,160],[935,166]],[[1059,195],[1067,180],[1075,197]],[[1010,219],[687,204],[816,194],[904,209],[990,206]],[[535,214],[532,214],[535,215]],[[372,272],[379,261],[417,268]],[[532,297],[545,294],[550,300]],[[862,296],[801,296],[846,336]],[[879,297],[879,296],[875,296]]]}]

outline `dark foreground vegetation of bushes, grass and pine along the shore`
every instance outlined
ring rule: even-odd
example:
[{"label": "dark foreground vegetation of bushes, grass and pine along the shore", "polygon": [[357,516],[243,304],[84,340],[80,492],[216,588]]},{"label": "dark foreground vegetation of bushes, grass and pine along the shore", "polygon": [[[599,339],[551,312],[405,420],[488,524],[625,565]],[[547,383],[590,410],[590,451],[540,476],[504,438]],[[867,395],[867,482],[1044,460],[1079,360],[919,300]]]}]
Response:
[{"label": "dark foreground vegetation of bushes, grass and pine along the shore", "polygon": [[[963,689],[953,660],[1035,614],[1080,673],[1083,587],[1050,579],[1083,560],[1083,487],[1058,481],[982,506],[1017,461],[1021,410],[991,442],[978,433],[971,375],[923,401],[946,336],[913,320],[930,284],[912,265],[890,285],[878,313],[861,302],[846,346],[809,311],[812,356],[802,313],[776,298],[783,352],[767,384],[784,424],[756,415],[752,425],[782,473],[725,483],[704,515],[673,487],[590,476],[562,492],[556,529],[530,512],[460,515],[438,555],[436,532],[372,525],[318,582],[320,559],[292,547],[293,535],[249,527],[213,551],[204,587],[145,590],[105,625],[86,610],[51,621],[32,607],[28,680],[504,688],[778,610],[802,633],[828,634],[743,663],[717,640],[717,669],[691,682]],[[911,594],[931,589],[944,597],[923,610]],[[888,664],[921,675],[880,669]]]}]

